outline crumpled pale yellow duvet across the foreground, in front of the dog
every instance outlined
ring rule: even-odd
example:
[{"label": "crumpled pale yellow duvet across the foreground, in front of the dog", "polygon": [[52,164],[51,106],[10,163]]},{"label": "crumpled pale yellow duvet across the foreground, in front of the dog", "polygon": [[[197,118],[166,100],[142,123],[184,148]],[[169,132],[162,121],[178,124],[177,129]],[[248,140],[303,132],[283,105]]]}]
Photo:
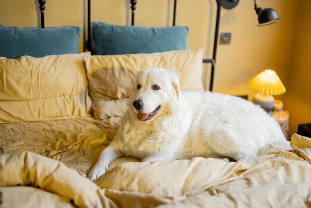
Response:
[{"label": "crumpled pale yellow duvet across the foreground, in front of the dog", "polygon": [[[308,208],[310,157],[311,138],[294,134],[291,143],[274,142],[262,148],[258,157],[238,162],[197,157],[150,164],[120,158],[93,183],[57,160],[8,151],[0,155],[0,193],[10,187],[12,194],[1,194],[0,206],[18,198],[26,186],[52,193],[45,196],[60,207],[71,203],[99,208]],[[38,192],[26,192],[28,201],[40,203]]]}]

